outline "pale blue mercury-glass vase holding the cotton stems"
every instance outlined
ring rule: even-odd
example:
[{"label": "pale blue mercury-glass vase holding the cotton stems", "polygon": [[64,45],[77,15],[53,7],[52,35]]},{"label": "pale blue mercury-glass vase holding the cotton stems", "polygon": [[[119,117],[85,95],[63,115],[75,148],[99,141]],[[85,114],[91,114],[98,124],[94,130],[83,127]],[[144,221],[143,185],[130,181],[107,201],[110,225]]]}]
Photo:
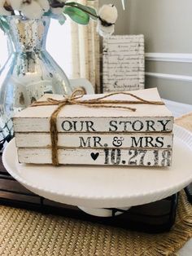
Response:
[{"label": "pale blue mercury-glass vase holding the cotton stems", "polygon": [[15,113],[45,93],[72,94],[68,77],[46,51],[50,18],[7,16],[7,25],[11,55],[0,71],[0,149],[14,134]]}]

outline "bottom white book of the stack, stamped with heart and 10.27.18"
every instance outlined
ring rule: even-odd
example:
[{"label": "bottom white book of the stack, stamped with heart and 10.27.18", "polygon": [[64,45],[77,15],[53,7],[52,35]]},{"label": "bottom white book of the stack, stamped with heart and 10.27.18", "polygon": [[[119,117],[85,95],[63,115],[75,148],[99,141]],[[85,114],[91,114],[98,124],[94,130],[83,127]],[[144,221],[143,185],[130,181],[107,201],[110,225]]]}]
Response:
[{"label": "bottom white book of the stack, stamped with heart and 10.27.18", "polygon": [[[59,148],[59,164],[91,166],[171,166],[172,149]],[[20,163],[51,164],[50,148],[18,148]]]}]

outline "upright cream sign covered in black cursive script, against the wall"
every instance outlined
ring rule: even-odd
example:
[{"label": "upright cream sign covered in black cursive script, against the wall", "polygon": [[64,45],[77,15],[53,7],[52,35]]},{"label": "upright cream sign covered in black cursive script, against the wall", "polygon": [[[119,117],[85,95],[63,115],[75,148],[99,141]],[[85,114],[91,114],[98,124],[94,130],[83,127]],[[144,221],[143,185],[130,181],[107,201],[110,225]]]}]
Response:
[{"label": "upright cream sign covered in black cursive script, against the wall", "polygon": [[103,92],[140,90],[145,82],[143,35],[103,40]]}]

